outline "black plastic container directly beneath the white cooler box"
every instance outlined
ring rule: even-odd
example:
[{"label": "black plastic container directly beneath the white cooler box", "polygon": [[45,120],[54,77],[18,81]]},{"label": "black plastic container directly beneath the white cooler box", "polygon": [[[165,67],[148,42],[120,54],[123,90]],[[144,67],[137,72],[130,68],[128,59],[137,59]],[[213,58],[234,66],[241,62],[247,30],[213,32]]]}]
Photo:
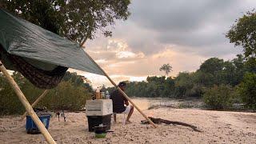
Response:
[{"label": "black plastic container directly beneath the white cooler box", "polygon": [[90,132],[94,132],[94,127],[99,125],[106,126],[106,130],[110,130],[111,127],[111,114],[103,116],[87,116],[88,127]]}]

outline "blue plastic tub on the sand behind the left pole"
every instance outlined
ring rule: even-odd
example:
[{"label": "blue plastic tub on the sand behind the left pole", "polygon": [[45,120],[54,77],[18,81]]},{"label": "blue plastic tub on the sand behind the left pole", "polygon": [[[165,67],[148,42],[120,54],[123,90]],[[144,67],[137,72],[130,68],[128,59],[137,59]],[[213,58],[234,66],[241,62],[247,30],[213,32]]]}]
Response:
[{"label": "blue plastic tub on the sand behind the left pole", "polygon": [[[46,115],[38,115],[38,118],[41,120],[42,124],[46,126],[46,129],[49,128],[49,122],[50,122],[50,114]],[[27,134],[40,134],[40,130],[38,129],[38,126],[35,125],[32,118],[27,115],[26,116],[26,133]]]}]

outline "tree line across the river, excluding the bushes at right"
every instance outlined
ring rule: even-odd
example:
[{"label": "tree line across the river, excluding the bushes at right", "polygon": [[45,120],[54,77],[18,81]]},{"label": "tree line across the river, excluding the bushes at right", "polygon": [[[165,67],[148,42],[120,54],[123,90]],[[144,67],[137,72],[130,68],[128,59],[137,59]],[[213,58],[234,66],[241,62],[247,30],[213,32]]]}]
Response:
[{"label": "tree line across the river, excluding the bushes at right", "polygon": [[237,86],[246,71],[242,55],[231,61],[209,58],[195,72],[180,72],[174,78],[154,76],[146,78],[146,82],[127,82],[126,93],[136,97],[202,97],[213,86]]}]

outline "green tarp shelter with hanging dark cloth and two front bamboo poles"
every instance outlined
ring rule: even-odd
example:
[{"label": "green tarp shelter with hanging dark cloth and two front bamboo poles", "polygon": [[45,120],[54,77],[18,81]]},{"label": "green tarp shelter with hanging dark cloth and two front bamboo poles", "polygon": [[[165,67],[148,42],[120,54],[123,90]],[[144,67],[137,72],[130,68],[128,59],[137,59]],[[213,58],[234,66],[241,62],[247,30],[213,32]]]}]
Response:
[{"label": "green tarp shelter with hanging dark cloth and two front bamboo poles", "polygon": [[[39,87],[41,84],[46,88],[57,86],[67,68],[105,75],[114,86],[117,86],[80,46],[0,9],[0,70],[49,143],[55,143],[54,139],[3,64],[9,70],[20,71],[30,82]],[[50,82],[50,78],[53,78],[54,82]],[[40,80],[45,82],[38,83]],[[118,90],[150,124],[156,127],[119,87]]]}]

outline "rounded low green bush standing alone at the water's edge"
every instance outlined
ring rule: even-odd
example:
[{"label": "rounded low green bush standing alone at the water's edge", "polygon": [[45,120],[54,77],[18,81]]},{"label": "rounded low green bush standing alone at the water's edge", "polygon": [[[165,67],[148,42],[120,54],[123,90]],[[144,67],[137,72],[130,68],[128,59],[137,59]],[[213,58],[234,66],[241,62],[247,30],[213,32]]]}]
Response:
[{"label": "rounded low green bush standing alone at the water's edge", "polygon": [[230,86],[214,86],[206,90],[203,99],[210,109],[227,109],[232,105],[233,91]]}]

